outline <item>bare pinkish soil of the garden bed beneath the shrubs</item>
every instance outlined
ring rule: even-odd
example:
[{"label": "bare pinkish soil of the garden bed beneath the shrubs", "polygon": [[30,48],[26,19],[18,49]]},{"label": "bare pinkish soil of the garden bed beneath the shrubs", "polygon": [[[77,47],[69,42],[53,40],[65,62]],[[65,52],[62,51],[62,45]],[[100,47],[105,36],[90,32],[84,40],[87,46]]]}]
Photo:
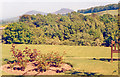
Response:
[{"label": "bare pinkish soil of the garden bed beneath the shrubs", "polygon": [[56,73],[62,73],[72,69],[68,64],[61,64],[60,67],[51,66],[46,71],[38,72],[34,65],[34,62],[28,63],[25,70],[22,71],[21,67],[16,65],[13,68],[10,68],[10,64],[5,64],[2,66],[2,70],[6,73],[15,74],[15,75],[55,75]]}]

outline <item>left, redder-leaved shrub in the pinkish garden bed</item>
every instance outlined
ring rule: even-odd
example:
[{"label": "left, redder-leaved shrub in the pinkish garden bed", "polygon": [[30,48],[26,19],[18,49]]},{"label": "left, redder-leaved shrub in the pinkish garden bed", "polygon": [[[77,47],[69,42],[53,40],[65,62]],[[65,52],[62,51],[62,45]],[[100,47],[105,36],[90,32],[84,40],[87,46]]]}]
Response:
[{"label": "left, redder-leaved shrub in the pinkish garden bed", "polygon": [[10,52],[12,52],[12,56],[16,61],[14,63],[10,63],[11,66],[13,67],[14,65],[19,65],[22,67],[21,70],[23,71],[28,62],[35,61],[40,55],[36,49],[34,49],[33,52],[31,51],[31,49],[28,49],[28,47],[26,47],[23,51],[16,49],[15,44],[12,44]]}]

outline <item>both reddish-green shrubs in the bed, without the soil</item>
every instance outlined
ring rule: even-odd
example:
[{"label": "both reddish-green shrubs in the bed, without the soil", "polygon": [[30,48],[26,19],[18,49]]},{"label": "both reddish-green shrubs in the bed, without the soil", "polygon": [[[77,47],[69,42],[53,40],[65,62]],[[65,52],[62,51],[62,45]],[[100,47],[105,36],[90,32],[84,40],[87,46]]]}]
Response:
[{"label": "both reddish-green shrubs in the bed, without the soil", "polygon": [[[34,70],[38,72],[43,72],[49,69],[49,67],[59,67],[63,63],[63,55],[60,56],[58,52],[49,52],[47,54],[42,54],[37,49],[29,49],[26,47],[23,51],[16,49],[15,44],[12,44],[11,51],[12,56],[15,59],[13,63],[10,63],[11,68],[15,65],[19,65],[21,70],[24,71],[28,63],[33,62],[36,67]],[[14,69],[14,68],[13,68]]]}]

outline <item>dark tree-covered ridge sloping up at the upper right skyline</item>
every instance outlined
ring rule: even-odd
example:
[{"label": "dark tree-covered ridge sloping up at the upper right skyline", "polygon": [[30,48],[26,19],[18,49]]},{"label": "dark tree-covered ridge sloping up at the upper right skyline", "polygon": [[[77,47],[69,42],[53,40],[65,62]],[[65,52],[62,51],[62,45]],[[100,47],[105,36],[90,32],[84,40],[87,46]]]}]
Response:
[{"label": "dark tree-covered ridge sloping up at the upper right skyline", "polygon": [[118,4],[109,4],[105,6],[97,6],[97,7],[91,7],[88,9],[83,9],[83,10],[78,10],[77,12],[79,13],[95,13],[95,12],[101,12],[101,11],[106,11],[106,10],[117,10]]}]

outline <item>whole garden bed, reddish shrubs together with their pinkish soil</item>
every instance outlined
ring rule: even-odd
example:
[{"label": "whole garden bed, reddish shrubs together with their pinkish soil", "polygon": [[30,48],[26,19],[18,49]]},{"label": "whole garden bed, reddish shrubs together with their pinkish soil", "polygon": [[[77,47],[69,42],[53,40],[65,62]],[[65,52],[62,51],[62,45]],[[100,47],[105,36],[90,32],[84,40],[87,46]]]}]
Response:
[{"label": "whole garden bed, reddish shrubs together with their pinkish soil", "polygon": [[11,53],[13,61],[7,61],[2,66],[2,70],[6,73],[15,75],[54,75],[56,73],[65,72],[72,68],[71,65],[63,61],[63,55],[58,52],[49,52],[42,54],[37,49],[18,50],[12,45]]}]

